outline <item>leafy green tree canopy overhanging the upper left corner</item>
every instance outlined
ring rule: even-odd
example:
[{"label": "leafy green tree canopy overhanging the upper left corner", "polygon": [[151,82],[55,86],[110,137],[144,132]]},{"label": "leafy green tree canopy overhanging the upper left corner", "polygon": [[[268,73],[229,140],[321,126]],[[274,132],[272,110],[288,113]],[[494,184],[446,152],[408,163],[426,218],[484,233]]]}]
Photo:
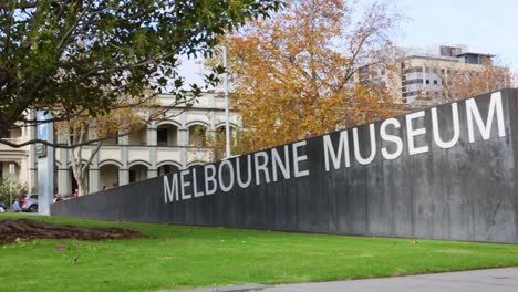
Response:
[{"label": "leafy green tree canopy overhanging the upper left corner", "polygon": [[[0,136],[28,109],[103,115],[121,96],[186,93],[180,54],[207,54],[216,36],[279,0],[14,0],[0,2]],[[209,84],[215,75],[207,76]],[[191,85],[199,94],[200,87]],[[81,109],[81,111],[80,111]],[[22,146],[0,140],[10,146]]]}]

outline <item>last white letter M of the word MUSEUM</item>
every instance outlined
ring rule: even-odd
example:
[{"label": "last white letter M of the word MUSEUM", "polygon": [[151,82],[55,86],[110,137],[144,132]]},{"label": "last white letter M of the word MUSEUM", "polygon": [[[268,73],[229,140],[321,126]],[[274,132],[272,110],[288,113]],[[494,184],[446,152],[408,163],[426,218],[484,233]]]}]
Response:
[{"label": "last white letter M of the word MUSEUM", "polygon": [[489,139],[491,135],[491,125],[493,117],[496,113],[497,115],[497,125],[498,125],[498,136],[506,136],[506,128],[504,125],[504,109],[501,108],[501,93],[495,92],[491,94],[491,100],[489,102],[489,109],[487,112],[487,122],[484,125],[480,113],[478,112],[477,103],[474,98],[466,100],[466,114],[467,114],[467,126],[468,126],[468,136],[469,143],[475,142],[473,119],[477,123],[478,131],[480,132],[483,139]]}]

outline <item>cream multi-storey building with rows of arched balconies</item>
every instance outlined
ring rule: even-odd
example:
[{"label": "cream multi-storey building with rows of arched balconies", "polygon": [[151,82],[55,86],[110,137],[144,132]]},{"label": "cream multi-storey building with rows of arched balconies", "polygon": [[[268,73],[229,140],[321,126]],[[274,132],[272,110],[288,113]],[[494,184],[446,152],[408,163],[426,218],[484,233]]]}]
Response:
[{"label": "cream multi-storey building with rows of arched balconies", "polygon": [[[213,159],[213,149],[206,145],[206,137],[225,128],[225,98],[215,93],[204,93],[191,106],[167,108],[174,101],[173,95],[159,95],[158,102],[166,109],[166,118],[152,121],[137,133],[103,142],[89,166],[90,192],[177,171]],[[238,125],[238,116],[234,112],[230,112],[230,125]],[[10,137],[17,143],[33,138],[34,127],[22,127]],[[64,143],[64,137],[55,137],[55,140]],[[83,160],[90,157],[93,149],[94,146],[82,152]],[[37,186],[33,145],[20,149],[1,146],[0,159],[3,176],[7,176],[8,164],[14,163],[15,179],[25,181],[30,188]],[[56,194],[66,195],[75,190],[70,150],[55,149],[54,175]]]}]

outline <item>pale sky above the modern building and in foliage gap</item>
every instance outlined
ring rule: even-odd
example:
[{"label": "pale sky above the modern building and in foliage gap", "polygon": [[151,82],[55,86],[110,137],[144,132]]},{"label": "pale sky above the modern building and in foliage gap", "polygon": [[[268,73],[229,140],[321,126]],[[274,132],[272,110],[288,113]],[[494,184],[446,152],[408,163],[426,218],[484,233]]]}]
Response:
[{"label": "pale sky above the modern building and in foliage gap", "polygon": [[[401,27],[397,44],[466,44],[472,52],[495,54],[501,65],[518,69],[518,1],[394,0],[394,3],[410,19]],[[201,81],[201,66],[194,61],[184,61],[182,67],[188,83]]]}]

